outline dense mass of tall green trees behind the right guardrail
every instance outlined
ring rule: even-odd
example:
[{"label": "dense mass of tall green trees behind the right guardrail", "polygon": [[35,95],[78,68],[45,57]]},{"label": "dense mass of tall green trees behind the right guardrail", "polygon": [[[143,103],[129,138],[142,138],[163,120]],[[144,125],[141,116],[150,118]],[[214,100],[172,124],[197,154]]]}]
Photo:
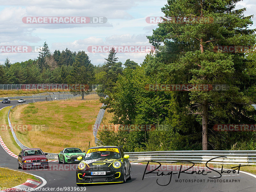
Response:
[{"label": "dense mass of tall green trees behind the right guardrail", "polygon": [[[256,122],[256,53],[224,53],[218,46],[254,46],[252,15],[239,0],[168,1],[163,22],[147,36],[156,52],[141,66],[125,68],[101,98],[109,122],[154,125],[153,131],[100,131],[100,144],[126,151],[256,150],[255,131],[216,131],[214,125]],[[168,22],[173,17],[211,17],[211,23]],[[225,18],[225,19],[218,19]],[[218,22],[215,22],[218,20]],[[147,84],[223,84],[226,91],[148,91]],[[164,125],[164,130],[162,129]],[[109,127],[108,127],[109,129]]]}]

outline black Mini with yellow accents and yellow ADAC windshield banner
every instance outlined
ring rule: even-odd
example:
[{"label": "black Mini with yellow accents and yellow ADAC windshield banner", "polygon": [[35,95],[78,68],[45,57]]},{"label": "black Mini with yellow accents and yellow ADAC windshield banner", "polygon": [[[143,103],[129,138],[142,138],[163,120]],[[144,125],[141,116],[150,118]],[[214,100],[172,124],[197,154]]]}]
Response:
[{"label": "black Mini with yellow accents and yellow ADAC windshield banner", "polygon": [[97,183],[125,183],[132,179],[129,155],[124,155],[122,146],[100,146],[87,150],[76,168],[76,185]]}]

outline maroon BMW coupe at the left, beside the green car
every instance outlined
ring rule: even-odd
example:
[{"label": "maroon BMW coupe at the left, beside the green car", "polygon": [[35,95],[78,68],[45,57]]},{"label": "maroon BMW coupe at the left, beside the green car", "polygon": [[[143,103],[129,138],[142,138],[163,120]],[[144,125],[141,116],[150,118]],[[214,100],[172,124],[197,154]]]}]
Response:
[{"label": "maroon BMW coupe at the left, beside the green car", "polygon": [[48,168],[48,159],[41,149],[31,148],[20,151],[18,157],[18,169]]}]

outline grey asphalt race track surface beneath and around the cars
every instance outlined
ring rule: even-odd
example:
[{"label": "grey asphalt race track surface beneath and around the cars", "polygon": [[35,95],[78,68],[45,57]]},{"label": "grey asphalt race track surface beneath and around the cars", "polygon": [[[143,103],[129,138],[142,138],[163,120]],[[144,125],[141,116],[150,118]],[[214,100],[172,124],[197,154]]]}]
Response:
[{"label": "grey asphalt race track surface beneath and around the cars", "polygon": [[[26,102],[32,102],[31,99],[26,99]],[[17,104],[17,100],[12,100],[11,104],[0,103],[0,108]],[[0,166],[8,167],[10,169],[18,170],[17,159],[7,154],[2,147],[0,147]],[[178,165],[177,165],[178,166]],[[49,162],[49,169],[44,170],[26,170],[24,172],[35,174],[43,177],[47,184],[41,188],[41,191],[51,191],[49,188],[54,188],[52,191],[78,191],[74,190],[76,186],[76,164],[58,164],[58,162]],[[169,166],[172,167],[172,166]],[[132,165],[132,180],[127,180],[126,183],[121,184],[96,184],[85,185],[88,192],[255,192],[256,178],[239,172],[236,173],[222,173],[221,178],[217,178],[220,174],[210,170],[205,170],[204,174],[188,174],[180,173],[179,170],[168,169],[162,166],[163,176],[157,176],[155,173],[143,174],[146,165]],[[148,167],[149,168],[149,167]],[[154,169],[154,168],[152,168]],[[151,170],[152,170],[151,169]],[[201,170],[204,168],[200,168]],[[173,170],[173,172],[171,172]],[[240,170],[243,170],[241,167]],[[23,170],[20,170],[23,171]],[[218,170],[220,172],[220,170]],[[224,170],[227,171],[227,170]],[[145,173],[148,173],[149,169]],[[155,171],[157,173],[157,171]],[[159,171],[160,175],[162,171]],[[171,178],[172,173],[172,178]],[[197,171],[198,173],[198,171]],[[201,172],[202,173],[202,172]],[[212,177],[213,179],[210,179]],[[171,181],[170,181],[171,179]],[[192,182],[192,180],[194,182]],[[221,182],[220,182],[221,180]],[[225,182],[223,182],[223,180]],[[227,182],[229,181],[229,182]],[[231,181],[231,182],[230,182]],[[233,181],[233,182],[232,182]],[[158,184],[157,184],[158,182]],[[169,183],[170,182],[170,183]],[[168,184],[169,183],[169,184]],[[160,185],[159,185],[160,184]],[[165,186],[161,186],[165,185]],[[63,187],[66,187],[63,189]],[[68,188],[69,187],[69,188]],[[44,190],[43,190],[44,188]],[[38,190],[40,191],[40,190]],[[81,190],[80,190],[81,191]]]}]

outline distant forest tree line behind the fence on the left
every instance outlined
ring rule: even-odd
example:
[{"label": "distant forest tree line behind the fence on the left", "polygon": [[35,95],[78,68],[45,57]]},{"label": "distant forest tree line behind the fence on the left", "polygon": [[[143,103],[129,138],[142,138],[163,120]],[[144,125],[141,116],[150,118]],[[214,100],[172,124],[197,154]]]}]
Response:
[{"label": "distant forest tree line behind the fence on the left", "polygon": [[112,48],[103,64],[95,66],[83,50],[76,53],[66,48],[51,53],[44,42],[37,59],[11,63],[6,58],[4,65],[0,65],[0,84],[101,84],[99,90],[104,92],[105,89],[111,89],[124,67],[135,68],[138,65],[130,59],[124,64],[117,59],[116,50]]}]

